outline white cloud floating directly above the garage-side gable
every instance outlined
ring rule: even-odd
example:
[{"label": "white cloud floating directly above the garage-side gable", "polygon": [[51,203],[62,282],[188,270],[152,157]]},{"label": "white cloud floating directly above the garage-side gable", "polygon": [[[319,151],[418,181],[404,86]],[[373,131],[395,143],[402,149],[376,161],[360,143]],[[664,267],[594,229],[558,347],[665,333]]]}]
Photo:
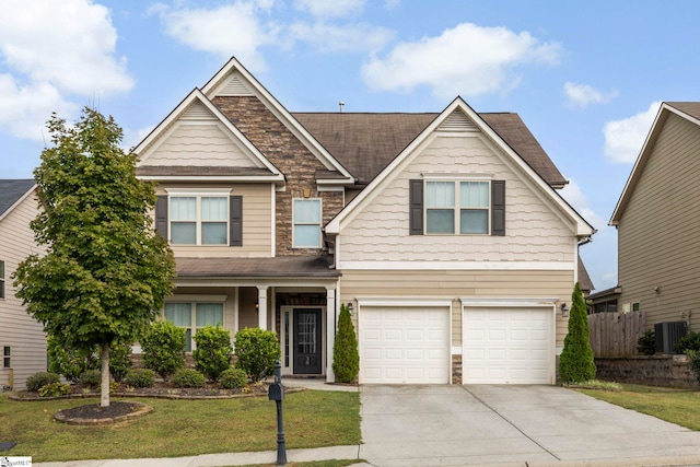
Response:
[{"label": "white cloud floating directly above the garage-side gable", "polygon": [[527,32],[463,23],[438,37],[401,43],[385,59],[363,67],[365,83],[377,91],[432,87],[441,98],[479,95],[512,89],[518,65],[556,63],[559,46],[541,44]]}]

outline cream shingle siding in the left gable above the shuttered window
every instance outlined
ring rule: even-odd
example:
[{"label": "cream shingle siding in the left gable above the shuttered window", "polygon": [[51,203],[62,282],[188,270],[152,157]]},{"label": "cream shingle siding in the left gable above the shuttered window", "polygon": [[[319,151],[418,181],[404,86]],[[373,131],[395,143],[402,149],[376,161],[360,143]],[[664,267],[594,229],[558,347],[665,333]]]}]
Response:
[{"label": "cream shingle siding in the left gable above the shuttered window", "polygon": [[256,166],[233,142],[229,131],[215,121],[175,124],[149,155],[147,165]]}]

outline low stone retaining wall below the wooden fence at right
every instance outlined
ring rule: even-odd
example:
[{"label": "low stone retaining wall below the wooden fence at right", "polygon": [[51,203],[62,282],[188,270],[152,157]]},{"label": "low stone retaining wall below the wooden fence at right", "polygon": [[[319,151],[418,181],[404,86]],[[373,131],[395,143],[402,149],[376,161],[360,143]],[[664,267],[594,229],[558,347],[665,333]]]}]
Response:
[{"label": "low stone retaining wall below the wooden fence at right", "polygon": [[666,387],[699,387],[687,355],[596,357],[596,380]]}]

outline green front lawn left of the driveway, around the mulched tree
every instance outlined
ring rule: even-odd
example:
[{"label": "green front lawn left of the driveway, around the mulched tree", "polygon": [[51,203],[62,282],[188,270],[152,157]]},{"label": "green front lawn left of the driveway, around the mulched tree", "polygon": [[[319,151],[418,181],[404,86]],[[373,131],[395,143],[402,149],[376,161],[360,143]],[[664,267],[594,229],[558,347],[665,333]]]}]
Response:
[{"label": "green front lawn left of the driveway, around the mulched tree", "polygon": [[[18,443],[2,455],[38,463],[277,450],[277,408],[267,397],[139,400],[153,412],[83,427],[57,422],[54,415],[97,399],[18,402],[0,396],[0,441]],[[358,393],[305,390],[287,395],[282,407],[289,450],[360,444]]]}]

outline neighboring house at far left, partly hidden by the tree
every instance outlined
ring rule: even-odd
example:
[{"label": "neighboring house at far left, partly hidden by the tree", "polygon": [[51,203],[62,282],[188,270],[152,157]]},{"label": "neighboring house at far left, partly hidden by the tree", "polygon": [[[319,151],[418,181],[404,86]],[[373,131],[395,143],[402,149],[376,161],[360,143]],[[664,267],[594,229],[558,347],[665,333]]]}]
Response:
[{"label": "neighboring house at far left, partly hidden by the tree", "polygon": [[46,335],[14,296],[12,273],[37,253],[30,222],[38,213],[33,179],[0,180],[0,389],[24,389],[28,375],[46,371]]}]

